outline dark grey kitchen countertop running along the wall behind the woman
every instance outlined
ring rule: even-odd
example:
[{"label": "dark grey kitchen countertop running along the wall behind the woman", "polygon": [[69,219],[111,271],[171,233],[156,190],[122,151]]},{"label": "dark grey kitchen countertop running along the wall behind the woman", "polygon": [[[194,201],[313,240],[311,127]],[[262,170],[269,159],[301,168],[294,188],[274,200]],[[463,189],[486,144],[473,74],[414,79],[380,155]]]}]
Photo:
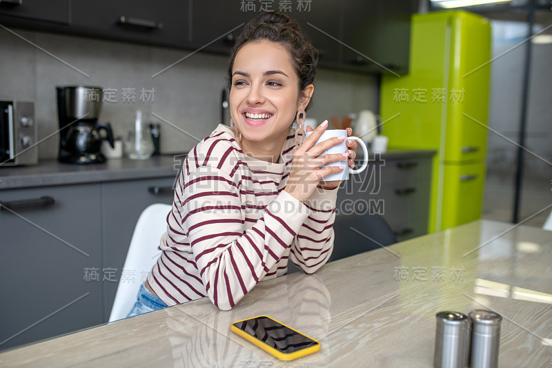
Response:
[{"label": "dark grey kitchen countertop running along the wall behind the woman", "polygon": [[[362,157],[362,150],[358,153],[358,157]],[[371,160],[408,159],[434,153],[429,150],[390,150],[381,155],[369,153],[369,157]],[[50,159],[31,166],[0,167],[0,190],[176,176],[184,157],[186,154],[160,155],[144,160],[108,159],[105,164],[90,165],[61,164]]]}]

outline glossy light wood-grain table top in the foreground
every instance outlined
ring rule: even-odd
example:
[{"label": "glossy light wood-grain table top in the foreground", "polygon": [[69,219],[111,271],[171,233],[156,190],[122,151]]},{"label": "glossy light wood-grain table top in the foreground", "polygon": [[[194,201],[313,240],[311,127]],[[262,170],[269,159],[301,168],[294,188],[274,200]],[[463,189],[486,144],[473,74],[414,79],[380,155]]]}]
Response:
[{"label": "glossy light wood-grain table top in the foreground", "polygon": [[[359,229],[362,231],[362,229]],[[552,232],[480,220],[259,283],[232,311],[206,298],[0,354],[1,367],[432,367],[435,313],[504,318],[500,367],[552,361]],[[39,303],[37,303],[37,307]],[[322,349],[282,362],[230,332],[272,316]]]}]

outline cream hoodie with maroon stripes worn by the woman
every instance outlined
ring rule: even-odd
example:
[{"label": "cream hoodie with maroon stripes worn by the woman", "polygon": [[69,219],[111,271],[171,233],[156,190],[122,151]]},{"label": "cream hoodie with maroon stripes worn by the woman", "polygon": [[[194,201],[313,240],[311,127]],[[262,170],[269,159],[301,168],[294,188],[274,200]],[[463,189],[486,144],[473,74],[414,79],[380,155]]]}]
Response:
[{"label": "cream hoodie with maroon stripes worn by the woman", "polygon": [[185,159],[159,260],[148,275],[172,306],[208,296],[228,310],[261,280],[287,273],[288,260],[313,273],[331,255],[337,188],[303,204],[284,191],[295,137],[277,163],[245,155],[219,124]]}]

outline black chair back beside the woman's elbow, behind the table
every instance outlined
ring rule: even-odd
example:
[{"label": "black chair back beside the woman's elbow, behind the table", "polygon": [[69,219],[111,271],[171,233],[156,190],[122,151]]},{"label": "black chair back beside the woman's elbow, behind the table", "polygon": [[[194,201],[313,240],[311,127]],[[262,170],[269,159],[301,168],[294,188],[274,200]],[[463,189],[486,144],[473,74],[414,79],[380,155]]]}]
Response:
[{"label": "black chair back beside the woman's elbow, behind the table", "polygon": [[384,217],[377,213],[335,217],[335,240],[328,262],[395,244],[397,238]]}]

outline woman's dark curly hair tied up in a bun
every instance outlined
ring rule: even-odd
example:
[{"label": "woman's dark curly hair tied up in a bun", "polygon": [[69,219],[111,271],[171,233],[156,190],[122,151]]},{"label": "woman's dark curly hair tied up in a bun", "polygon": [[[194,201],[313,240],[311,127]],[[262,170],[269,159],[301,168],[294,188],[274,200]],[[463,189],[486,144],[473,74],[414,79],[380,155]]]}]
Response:
[{"label": "woman's dark curly hair tied up in a bun", "polygon": [[230,52],[228,89],[232,88],[232,69],[237,52],[246,43],[259,41],[279,43],[286,48],[299,77],[299,93],[313,83],[318,61],[317,50],[306,40],[296,21],[280,12],[264,12],[246,24]]}]

